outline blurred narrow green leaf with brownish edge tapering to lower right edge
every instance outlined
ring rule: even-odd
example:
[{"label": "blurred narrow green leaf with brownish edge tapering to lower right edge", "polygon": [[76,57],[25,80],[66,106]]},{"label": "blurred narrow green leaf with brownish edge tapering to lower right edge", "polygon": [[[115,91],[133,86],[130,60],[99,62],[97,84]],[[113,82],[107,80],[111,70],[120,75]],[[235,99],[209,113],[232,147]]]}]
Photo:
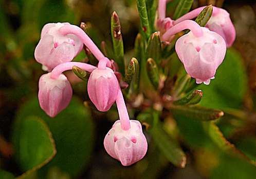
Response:
[{"label": "blurred narrow green leaf with brownish edge tapering to lower right edge", "polygon": [[210,139],[222,151],[229,155],[236,156],[237,158],[244,159],[255,165],[254,161],[251,161],[245,154],[243,154],[233,144],[227,141],[227,139],[223,136],[223,133],[212,121],[203,123],[203,127],[207,135],[210,137]]}]

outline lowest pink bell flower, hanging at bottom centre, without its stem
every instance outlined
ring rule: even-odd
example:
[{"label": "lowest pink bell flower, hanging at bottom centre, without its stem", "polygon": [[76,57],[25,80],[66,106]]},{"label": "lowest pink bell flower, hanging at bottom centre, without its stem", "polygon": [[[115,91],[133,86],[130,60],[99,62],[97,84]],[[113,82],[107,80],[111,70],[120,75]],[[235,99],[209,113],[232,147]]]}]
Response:
[{"label": "lowest pink bell flower, hanging at bottom centre, without its stem", "polygon": [[123,166],[132,165],[141,160],[148,150],[147,139],[143,135],[139,121],[130,120],[131,128],[123,130],[120,120],[116,121],[104,139],[104,147],[109,155]]}]

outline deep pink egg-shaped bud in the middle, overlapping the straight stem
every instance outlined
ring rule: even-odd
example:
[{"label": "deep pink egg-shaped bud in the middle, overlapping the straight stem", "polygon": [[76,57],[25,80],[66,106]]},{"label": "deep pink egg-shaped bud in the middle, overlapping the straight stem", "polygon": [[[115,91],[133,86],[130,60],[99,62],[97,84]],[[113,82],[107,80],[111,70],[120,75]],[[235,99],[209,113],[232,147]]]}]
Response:
[{"label": "deep pink egg-shaped bud in the middle, overlapping the straight stem", "polygon": [[87,90],[90,100],[100,111],[107,111],[115,102],[118,94],[118,80],[109,68],[95,69],[90,74]]}]

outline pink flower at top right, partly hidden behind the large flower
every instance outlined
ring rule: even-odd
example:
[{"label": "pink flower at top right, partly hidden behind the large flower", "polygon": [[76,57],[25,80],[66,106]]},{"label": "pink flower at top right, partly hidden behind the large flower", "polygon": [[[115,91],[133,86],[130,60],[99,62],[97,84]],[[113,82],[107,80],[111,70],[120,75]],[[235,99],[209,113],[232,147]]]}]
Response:
[{"label": "pink flower at top right, partly hidden behind the large flower", "polygon": [[226,41],[227,47],[231,47],[235,40],[235,29],[229,13],[222,8],[216,9],[219,10],[218,13],[216,15],[212,15],[206,24],[206,27],[208,27],[211,31],[220,34]]}]

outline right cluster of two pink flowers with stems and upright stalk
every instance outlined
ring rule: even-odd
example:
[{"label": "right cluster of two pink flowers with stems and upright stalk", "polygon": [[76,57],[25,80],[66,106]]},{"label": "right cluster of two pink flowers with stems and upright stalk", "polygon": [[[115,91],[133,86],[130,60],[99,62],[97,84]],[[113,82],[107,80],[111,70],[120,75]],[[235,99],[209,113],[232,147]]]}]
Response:
[{"label": "right cluster of two pink flowers with stems and upright stalk", "polygon": [[160,39],[172,41],[177,32],[189,29],[188,34],[177,40],[176,53],[187,73],[196,79],[196,83],[209,84],[225,57],[226,48],[232,46],[235,39],[235,29],[229,13],[213,7],[212,16],[204,28],[189,20],[197,17],[204,7],[172,20],[170,17],[166,18],[166,2],[159,0],[158,4],[156,29],[160,33]]}]

